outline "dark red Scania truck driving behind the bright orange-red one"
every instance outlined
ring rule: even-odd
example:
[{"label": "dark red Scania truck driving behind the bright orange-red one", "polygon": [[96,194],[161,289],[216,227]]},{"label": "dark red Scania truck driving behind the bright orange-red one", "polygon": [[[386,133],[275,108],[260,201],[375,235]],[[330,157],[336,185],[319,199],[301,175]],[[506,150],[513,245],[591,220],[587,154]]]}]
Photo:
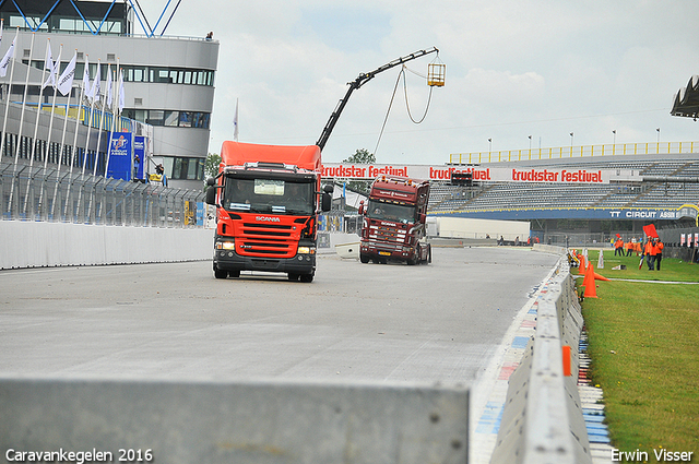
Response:
[{"label": "dark red Scania truck driving behind the bright orange-red one", "polygon": [[359,260],[430,263],[431,248],[425,240],[428,199],[427,180],[379,176],[371,185],[368,205],[359,205],[365,216]]}]

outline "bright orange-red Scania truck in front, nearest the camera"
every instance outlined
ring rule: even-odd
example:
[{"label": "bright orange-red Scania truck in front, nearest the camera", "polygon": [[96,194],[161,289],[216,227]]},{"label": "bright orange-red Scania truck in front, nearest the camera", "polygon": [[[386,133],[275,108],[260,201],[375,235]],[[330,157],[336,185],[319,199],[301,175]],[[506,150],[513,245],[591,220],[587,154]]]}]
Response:
[{"label": "bright orange-red Scania truck in front, nearest the camera", "polygon": [[320,147],[227,141],[221,158],[206,190],[206,203],[216,205],[214,276],[285,272],[312,282],[317,217],[332,202],[332,186],[321,191]]}]

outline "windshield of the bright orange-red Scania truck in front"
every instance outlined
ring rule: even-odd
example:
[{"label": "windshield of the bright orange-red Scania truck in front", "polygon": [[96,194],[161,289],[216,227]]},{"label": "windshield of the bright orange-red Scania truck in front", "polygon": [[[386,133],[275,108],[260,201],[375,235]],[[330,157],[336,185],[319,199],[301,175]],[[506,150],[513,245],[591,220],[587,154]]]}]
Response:
[{"label": "windshield of the bright orange-red Scania truck in front", "polygon": [[315,187],[311,182],[229,177],[223,205],[229,211],[310,215],[315,212]]}]

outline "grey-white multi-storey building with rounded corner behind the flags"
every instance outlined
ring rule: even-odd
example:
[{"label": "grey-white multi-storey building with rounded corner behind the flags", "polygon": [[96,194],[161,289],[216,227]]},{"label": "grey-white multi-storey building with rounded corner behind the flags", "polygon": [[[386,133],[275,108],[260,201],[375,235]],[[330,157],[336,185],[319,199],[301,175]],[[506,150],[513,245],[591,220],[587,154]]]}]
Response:
[{"label": "grey-white multi-storey building with rounded corner behind the flags", "polygon": [[[73,5],[74,4],[74,5]],[[54,59],[57,59],[60,46],[60,71],[64,70],[74,53],[78,56],[75,81],[71,94],[71,112],[75,114],[75,105],[81,92],[85,61],[88,62],[90,76],[94,80],[99,62],[102,88],[106,86],[107,70],[123,70],[123,111],[122,117],[140,121],[144,124],[129,124],[135,132],[150,136],[153,160],[149,163],[149,171],[154,165],[162,163],[169,178],[170,187],[201,189],[204,178],[204,159],[209,152],[211,114],[214,99],[214,78],[218,60],[218,43],[202,37],[169,37],[155,34],[135,35],[137,26],[143,17],[132,9],[132,2],[120,1],[57,1],[57,0],[15,0],[0,3],[0,17],[3,20],[3,37],[0,53],[8,50],[15,31],[19,27],[15,46],[15,67],[5,78],[0,78],[2,85],[2,105],[0,105],[0,130],[4,119],[7,92],[11,88],[9,100],[12,102],[8,112],[5,147],[1,160],[13,160],[20,144],[20,158],[29,158],[34,128],[36,127],[36,104],[39,99],[42,73],[46,57],[47,38]],[[32,47],[32,36],[34,46]],[[31,55],[31,57],[29,57]],[[29,72],[27,103],[22,134],[17,136],[20,124],[20,105],[23,100],[27,68]],[[50,107],[54,91],[47,87],[43,93],[44,109]],[[67,97],[58,95],[57,103],[66,107]],[[97,107],[99,105],[97,104]],[[58,112],[64,112],[59,109]],[[82,114],[81,114],[82,115]],[[85,112],[86,115],[86,112]],[[49,136],[49,117],[42,115],[37,133],[38,150],[35,148],[35,163],[49,163],[58,159],[58,152],[63,139],[63,121],[55,118]],[[74,119],[72,120],[74,121]],[[96,119],[97,121],[97,119]],[[152,126],[152,129],[149,126]],[[105,124],[108,126],[108,124]],[[70,163],[74,123],[68,123],[70,143],[63,150],[63,163]],[[104,162],[108,147],[107,128],[98,134],[99,124],[95,122],[87,140],[87,121],[78,128],[78,153],[87,146],[87,165],[97,156],[97,174],[104,172]],[[99,145],[97,145],[99,140]],[[92,156],[92,158],[91,158]],[[12,157],[12,158],[10,158]],[[91,160],[93,159],[93,160]]]}]

